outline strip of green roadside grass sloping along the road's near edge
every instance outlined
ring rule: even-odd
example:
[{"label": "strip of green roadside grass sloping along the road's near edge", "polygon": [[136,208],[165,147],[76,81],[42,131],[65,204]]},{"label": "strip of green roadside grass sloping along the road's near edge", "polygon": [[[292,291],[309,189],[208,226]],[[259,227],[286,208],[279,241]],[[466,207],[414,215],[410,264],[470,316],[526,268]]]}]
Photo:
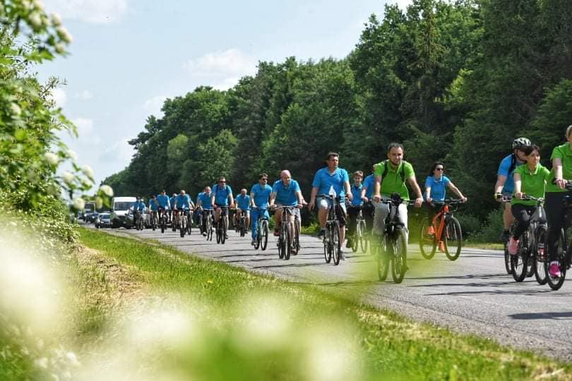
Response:
[{"label": "strip of green roadside grass sloping along the road's near edge", "polygon": [[[299,329],[314,329],[316,321],[323,321],[324,317],[328,321],[343,322],[340,327],[347,326],[348,332],[355,332],[352,340],[359,348],[363,379],[525,380],[551,375],[555,370],[559,370],[555,373],[557,376],[549,376],[549,379],[572,378],[569,364],[508,349],[488,339],[453,334],[446,329],[412,322],[394,313],[364,306],[357,297],[330,294],[317,286],[251,274],[220,262],[195,258],[174,248],[93,230],[81,229],[80,239],[83,245],[129,267],[150,289],[180,295],[181,303],[186,298],[198,298],[208,306],[205,313],[212,313],[216,319],[222,317],[231,324],[237,317],[232,313],[225,315],[227,311],[242,303],[249,294],[261,290],[296,302],[288,314],[295,316]],[[340,331],[342,334],[344,329]],[[228,353],[225,340],[219,344],[226,348],[223,353]],[[232,356],[245,361],[244,353],[232,352]],[[280,365],[280,360],[265,356],[254,361],[266,372],[277,362]],[[283,363],[282,366],[286,373],[292,370]]]}]

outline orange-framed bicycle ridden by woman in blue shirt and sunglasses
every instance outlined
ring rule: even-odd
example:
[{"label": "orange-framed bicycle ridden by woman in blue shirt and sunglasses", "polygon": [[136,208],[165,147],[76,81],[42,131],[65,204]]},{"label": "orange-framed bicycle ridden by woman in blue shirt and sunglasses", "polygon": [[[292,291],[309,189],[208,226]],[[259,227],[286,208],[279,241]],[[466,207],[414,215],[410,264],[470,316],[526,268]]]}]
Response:
[{"label": "orange-framed bicycle ridden by woman in blue shirt and sunglasses", "polygon": [[[423,258],[430,260],[434,257],[437,246],[443,246],[448,260],[459,258],[461,247],[463,246],[463,231],[458,219],[453,217],[453,212],[457,210],[457,205],[462,201],[448,199],[443,201],[433,201],[436,205],[442,205],[441,210],[429,221],[424,218],[420,226],[419,250]],[[433,227],[434,234],[429,234],[429,228]],[[452,245],[451,245],[452,244]],[[453,251],[449,250],[454,248]]]}]

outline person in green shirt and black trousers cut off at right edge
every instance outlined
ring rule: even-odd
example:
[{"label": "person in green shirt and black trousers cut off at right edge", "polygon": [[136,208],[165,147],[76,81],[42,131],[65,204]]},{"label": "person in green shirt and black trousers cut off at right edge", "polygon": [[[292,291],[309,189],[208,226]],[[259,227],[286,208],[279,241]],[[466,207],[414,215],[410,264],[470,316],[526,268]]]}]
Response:
[{"label": "person in green shirt and black trousers cut off at right edge", "polygon": [[[550,160],[552,161],[552,171],[547,181],[546,187],[546,217],[548,219],[547,253],[550,265],[548,272],[552,277],[560,277],[560,269],[556,262],[556,246],[558,243],[560,229],[564,227],[564,214],[566,210],[562,207],[562,202],[568,192],[566,191],[566,180],[572,179],[572,125],[566,128],[566,140],[568,142],[558,145],[552,150]],[[554,183],[552,183],[554,181]]]}]

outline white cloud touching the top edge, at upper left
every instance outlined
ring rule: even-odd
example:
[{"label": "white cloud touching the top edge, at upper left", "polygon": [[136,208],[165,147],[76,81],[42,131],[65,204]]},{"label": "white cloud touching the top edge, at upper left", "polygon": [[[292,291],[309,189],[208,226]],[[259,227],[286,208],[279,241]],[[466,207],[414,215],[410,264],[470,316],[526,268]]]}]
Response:
[{"label": "white cloud touching the top edge, at upper left", "polygon": [[61,17],[86,23],[112,23],[120,20],[127,11],[129,0],[45,0],[48,13],[57,12]]}]

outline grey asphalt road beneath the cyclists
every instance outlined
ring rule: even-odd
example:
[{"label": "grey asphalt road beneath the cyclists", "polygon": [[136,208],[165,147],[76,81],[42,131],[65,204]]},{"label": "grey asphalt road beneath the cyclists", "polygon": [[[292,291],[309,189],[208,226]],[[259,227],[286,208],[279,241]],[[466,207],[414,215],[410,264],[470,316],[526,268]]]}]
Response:
[{"label": "grey asphalt road beneath the cyclists", "polygon": [[[506,274],[499,250],[463,248],[455,262],[439,252],[432,260],[425,260],[410,243],[410,270],[402,284],[393,284],[391,273],[387,282],[379,282],[374,258],[369,254],[350,254],[338,266],[326,264],[321,241],[311,236],[302,236],[299,255],[286,261],[278,258],[273,236],[268,239],[266,251],[261,251],[250,245],[249,236],[241,238],[234,231],[224,245],[217,244],[215,238],[207,243],[197,229],[185,238],[172,231],[112,231],[154,238],[201,258],[254,272],[359,293],[362,300],[374,306],[415,320],[572,361],[572,329],[568,329],[572,322],[572,279],[559,291],[540,286],[534,277],[516,283]],[[345,250],[347,253],[350,249]]]}]

